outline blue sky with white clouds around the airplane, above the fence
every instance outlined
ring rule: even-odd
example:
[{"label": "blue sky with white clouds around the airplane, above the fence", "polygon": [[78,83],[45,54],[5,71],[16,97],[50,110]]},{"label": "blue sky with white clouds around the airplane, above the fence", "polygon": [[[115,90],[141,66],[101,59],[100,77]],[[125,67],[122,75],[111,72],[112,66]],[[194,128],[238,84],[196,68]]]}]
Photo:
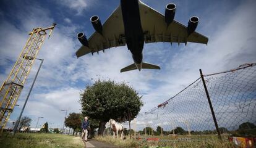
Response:
[{"label": "blue sky with white clouds around the airplane, above the fence", "polygon": [[[177,6],[175,20],[187,25],[189,18],[200,18],[197,32],[209,38],[208,45],[188,43],[145,44],[143,60],[160,65],[161,70],[138,70],[120,73],[133,63],[127,47],[111,48],[99,55],[88,54],[77,59],[80,43],[77,33],[94,33],[90,17],[98,15],[101,22],[119,5],[117,0],[54,0],[0,2],[0,83],[7,78],[19,56],[28,32],[36,27],[57,23],[51,38],[46,39],[38,58],[45,59],[23,116],[32,118],[35,127],[46,121],[62,128],[65,112],[80,112],[79,93],[98,78],[126,81],[142,96],[142,112],[156,107],[174,96],[203,73],[220,72],[245,63],[256,62],[256,1],[142,0],[164,14],[169,2]],[[23,88],[9,122],[19,116],[40,62],[36,61]],[[11,124],[8,126],[11,126]]]}]

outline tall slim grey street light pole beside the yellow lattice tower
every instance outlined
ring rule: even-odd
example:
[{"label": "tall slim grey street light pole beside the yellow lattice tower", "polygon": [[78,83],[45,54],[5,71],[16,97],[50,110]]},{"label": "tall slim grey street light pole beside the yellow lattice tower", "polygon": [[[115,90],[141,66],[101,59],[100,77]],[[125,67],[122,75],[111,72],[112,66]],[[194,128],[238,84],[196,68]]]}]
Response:
[{"label": "tall slim grey street light pole beside the yellow lattice tower", "polygon": [[[30,57],[30,56],[27,55],[27,56],[23,57],[23,59],[33,60],[34,57]],[[27,95],[27,98],[26,98],[26,100],[25,100],[25,102],[24,102],[24,105],[23,105],[23,107],[22,107],[22,111],[20,112],[20,116],[19,116],[18,120],[17,120],[16,123],[15,123],[14,130],[13,130],[14,134],[15,134],[16,131],[17,131],[17,128],[18,128],[19,123],[20,123],[20,118],[22,117],[22,113],[23,113],[23,111],[24,111],[24,109],[25,109],[25,107],[26,107],[26,104],[27,104],[27,102],[28,102],[28,97],[30,96],[30,93],[31,93],[31,91],[32,91],[32,89],[33,89],[33,86],[34,86],[34,84],[35,84],[36,78],[37,78],[37,76],[38,76],[38,73],[39,73],[39,71],[40,71],[40,69],[41,69],[41,66],[42,66],[42,64],[43,64],[43,59],[36,59],[36,60],[41,60],[41,63],[40,63],[40,66],[39,66],[39,68],[38,68],[38,70],[37,70],[37,72],[36,72],[36,75],[35,75],[35,78],[34,78],[34,80],[33,80],[33,83],[32,83],[32,85],[30,86],[30,89],[29,89],[29,91],[28,91],[28,95]]]}]

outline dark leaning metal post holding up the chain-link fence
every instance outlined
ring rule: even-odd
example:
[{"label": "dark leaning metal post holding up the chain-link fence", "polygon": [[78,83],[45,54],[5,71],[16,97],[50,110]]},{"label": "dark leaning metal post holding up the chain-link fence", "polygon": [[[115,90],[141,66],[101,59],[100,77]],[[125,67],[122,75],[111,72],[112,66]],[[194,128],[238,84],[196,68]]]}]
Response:
[{"label": "dark leaning metal post holding up the chain-link fence", "polygon": [[216,131],[218,133],[218,138],[221,140],[220,130],[219,130],[218,123],[217,123],[217,120],[216,120],[216,117],[215,117],[213,106],[211,105],[211,99],[210,99],[210,96],[209,96],[209,93],[208,93],[208,90],[207,90],[207,86],[205,84],[205,79],[203,78],[203,72],[202,72],[201,69],[199,71],[200,71],[200,76],[202,78],[203,87],[205,88],[205,94],[207,95],[208,103],[210,105],[211,115],[213,116],[213,121],[214,121],[214,124],[215,124],[215,128],[216,128]]}]

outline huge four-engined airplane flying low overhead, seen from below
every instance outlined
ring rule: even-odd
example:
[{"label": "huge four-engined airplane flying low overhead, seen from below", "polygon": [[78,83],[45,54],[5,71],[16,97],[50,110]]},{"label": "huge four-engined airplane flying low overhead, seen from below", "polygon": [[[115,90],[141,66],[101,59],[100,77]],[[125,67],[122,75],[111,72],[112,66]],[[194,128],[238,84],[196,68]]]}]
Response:
[{"label": "huge four-engined airplane flying low overhead, seen from below", "polygon": [[143,62],[144,43],[202,43],[207,44],[208,38],[197,33],[199,18],[192,16],[187,27],[174,20],[176,5],[169,3],[165,14],[154,10],[140,0],[121,0],[121,4],[101,25],[100,18],[90,18],[95,33],[87,40],[84,33],[78,33],[82,46],[76,52],[77,58],[88,53],[99,54],[105,49],[126,46],[132,53],[134,64],[121,69],[121,72],[138,69],[160,69],[158,65]]}]

